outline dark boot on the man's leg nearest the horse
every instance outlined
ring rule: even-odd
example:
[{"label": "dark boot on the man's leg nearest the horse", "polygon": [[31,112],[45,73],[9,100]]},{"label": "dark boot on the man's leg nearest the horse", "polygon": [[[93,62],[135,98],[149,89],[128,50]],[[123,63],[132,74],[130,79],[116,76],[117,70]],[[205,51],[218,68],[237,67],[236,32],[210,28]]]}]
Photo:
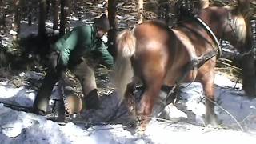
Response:
[{"label": "dark boot on the man's leg nearest the horse", "polygon": [[97,90],[91,90],[89,94],[86,95],[83,102],[83,109],[98,109],[99,107],[99,98]]}]

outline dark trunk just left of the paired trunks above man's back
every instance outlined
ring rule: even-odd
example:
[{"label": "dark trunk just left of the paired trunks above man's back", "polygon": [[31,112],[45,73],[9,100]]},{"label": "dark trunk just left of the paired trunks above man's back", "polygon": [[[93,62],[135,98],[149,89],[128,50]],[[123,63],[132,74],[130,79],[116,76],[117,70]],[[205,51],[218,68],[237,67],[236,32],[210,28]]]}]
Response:
[{"label": "dark trunk just left of the paired trunks above man's back", "polygon": [[44,38],[45,36],[46,36],[46,0],[40,0],[38,37]]}]

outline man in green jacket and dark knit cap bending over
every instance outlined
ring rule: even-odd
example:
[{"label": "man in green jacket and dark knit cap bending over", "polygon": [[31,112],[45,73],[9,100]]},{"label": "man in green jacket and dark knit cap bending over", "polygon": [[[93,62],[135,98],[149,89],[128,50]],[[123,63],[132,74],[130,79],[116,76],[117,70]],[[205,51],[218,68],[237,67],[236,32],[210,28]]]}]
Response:
[{"label": "man in green jacket and dark knit cap bending over", "polygon": [[96,109],[99,105],[94,71],[88,66],[86,57],[98,52],[107,67],[113,66],[113,57],[106,50],[101,38],[110,29],[108,18],[103,14],[94,20],[94,26],[78,26],[54,43],[50,53],[50,64],[34,101],[34,113],[46,114],[48,99],[54,84],[64,78],[69,69],[82,86],[83,109]]}]

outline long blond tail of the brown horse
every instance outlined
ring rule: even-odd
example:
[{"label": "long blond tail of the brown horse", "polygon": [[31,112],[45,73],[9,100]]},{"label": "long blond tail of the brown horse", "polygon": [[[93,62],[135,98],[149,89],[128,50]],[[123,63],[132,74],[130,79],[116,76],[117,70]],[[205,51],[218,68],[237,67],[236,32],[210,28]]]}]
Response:
[{"label": "long blond tail of the brown horse", "polygon": [[122,102],[126,86],[134,75],[130,57],[135,53],[136,38],[130,30],[123,30],[118,34],[116,44],[118,54],[114,65],[114,85]]}]

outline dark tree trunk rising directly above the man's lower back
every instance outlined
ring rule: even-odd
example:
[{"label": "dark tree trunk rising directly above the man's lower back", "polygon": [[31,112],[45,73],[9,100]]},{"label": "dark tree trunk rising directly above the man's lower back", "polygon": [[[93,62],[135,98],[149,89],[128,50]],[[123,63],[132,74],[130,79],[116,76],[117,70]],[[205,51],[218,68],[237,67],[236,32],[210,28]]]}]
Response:
[{"label": "dark tree trunk rising directly above the man's lower back", "polygon": [[60,36],[64,35],[66,32],[66,6],[67,0],[61,0],[61,16],[60,16],[60,26],[59,34]]}]

